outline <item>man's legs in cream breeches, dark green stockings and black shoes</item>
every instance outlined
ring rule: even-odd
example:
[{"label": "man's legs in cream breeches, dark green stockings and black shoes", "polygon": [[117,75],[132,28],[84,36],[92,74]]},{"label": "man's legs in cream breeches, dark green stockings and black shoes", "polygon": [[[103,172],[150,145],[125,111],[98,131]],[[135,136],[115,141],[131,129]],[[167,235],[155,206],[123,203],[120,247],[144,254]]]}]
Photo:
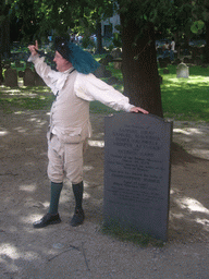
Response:
[{"label": "man's legs in cream breeches, dark green stockings and black shoes", "polygon": [[[48,177],[51,182],[51,199],[49,213],[39,221],[34,223],[34,228],[44,228],[51,223],[60,222],[58,214],[59,198],[62,191],[64,171],[70,181],[73,181],[73,193],[75,197],[75,214],[71,220],[73,227],[83,223],[84,210],[83,202],[83,143],[63,144],[57,136],[49,141],[48,148]],[[82,182],[81,182],[82,181]]]}]

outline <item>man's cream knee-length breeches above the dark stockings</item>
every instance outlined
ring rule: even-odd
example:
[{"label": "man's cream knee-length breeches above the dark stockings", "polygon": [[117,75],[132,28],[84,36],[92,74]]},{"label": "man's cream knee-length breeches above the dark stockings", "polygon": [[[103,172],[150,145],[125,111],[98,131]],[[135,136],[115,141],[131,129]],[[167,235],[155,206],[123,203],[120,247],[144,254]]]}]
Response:
[{"label": "man's cream knee-length breeches above the dark stockings", "polygon": [[73,184],[83,181],[83,145],[65,144],[53,135],[48,141],[48,177],[56,183],[63,182],[64,175]]}]

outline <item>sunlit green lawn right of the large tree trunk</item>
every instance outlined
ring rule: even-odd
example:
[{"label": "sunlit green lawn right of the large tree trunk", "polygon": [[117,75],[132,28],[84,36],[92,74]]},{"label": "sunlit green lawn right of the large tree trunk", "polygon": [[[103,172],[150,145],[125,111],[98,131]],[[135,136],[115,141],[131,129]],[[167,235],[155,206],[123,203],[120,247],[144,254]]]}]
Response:
[{"label": "sunlit green lawn right of the large tree trunk", "polygon": [[177,78],[176,66],[169,65],[169,74],[161,85],[162,108],[165,118],[209,122],[209,68],[189,68],[189,78]]}]

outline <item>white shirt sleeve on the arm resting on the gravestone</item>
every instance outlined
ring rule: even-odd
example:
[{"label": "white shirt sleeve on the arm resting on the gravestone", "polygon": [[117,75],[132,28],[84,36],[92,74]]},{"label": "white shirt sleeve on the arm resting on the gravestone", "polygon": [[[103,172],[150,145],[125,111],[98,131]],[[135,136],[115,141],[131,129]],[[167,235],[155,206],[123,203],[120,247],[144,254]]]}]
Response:
[{"label": "white shirt sleeve on the arm resting on the gravestone", "polygon": [[78,74],[75,81],[75,94],[87,101],[98,100],[114,110],[130,112],[134,107],[130,99],[94,74]]}]

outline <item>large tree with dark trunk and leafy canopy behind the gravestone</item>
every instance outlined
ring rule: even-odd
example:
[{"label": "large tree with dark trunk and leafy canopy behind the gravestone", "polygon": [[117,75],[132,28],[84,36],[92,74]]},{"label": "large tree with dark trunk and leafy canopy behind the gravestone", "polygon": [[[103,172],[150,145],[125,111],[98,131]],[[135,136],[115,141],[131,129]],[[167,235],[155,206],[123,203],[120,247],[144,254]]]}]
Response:
[{"label": "large tree with dark trunk and leafy canopy behind the gravestone", "polygon": [[[197,1],[197,0],[196,0]],[[189,23],[194,0],[29,0],[32,19],[39,34],[56,29],[59,34],[83,26],[96,28],[102,16],[114,11],[121,16],[124,93],[136,106],[163,117],[155,46],[155,29]],[[199,0],[206,1],[206,0]],[[23,0],[15,0],[22,13]],[[30,13],[32,14],[32,13]],[[29,15],[30,16],[30,15]],[[27,21],[29,16],[24,20]],[[192,24],[192,23],[190,23]],[[179,25],[180,26],[180,25]],[[179,27],[177,26],[177,27]]]}]

